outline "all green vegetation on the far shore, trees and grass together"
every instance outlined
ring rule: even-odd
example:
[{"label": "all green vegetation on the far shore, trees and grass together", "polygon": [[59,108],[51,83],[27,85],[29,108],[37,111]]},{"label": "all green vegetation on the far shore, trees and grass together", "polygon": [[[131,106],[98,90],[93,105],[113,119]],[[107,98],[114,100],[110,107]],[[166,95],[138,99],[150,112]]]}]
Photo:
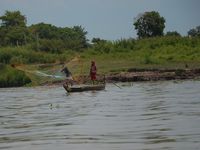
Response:
[{"label": "all green vegetation on the far shore, trees and grass together", "polygon": [[[20,12],[8,11],[0,17],[0,87],[38,85],[59,80],[54,78],[55,75],[63,79],[60,73],[63,64],[78,79],[89,74],[91,60],[96,61],[99,74],[126,72],[131,68],[199,68],[199,28],[191,29],[186,37],[176,31],[164,35],[163,17],[156,12],[145,13],[143,17],[147,15],[154,19],[155,14],[157,19],[162,20],[159,32],[149,30],[149,27],[138,29],[143,24],[137,22],[139,18],[135,22],[138,39],[107,41],[93,38],[92,43],[88,43],[87,32],[81,26],[60,28],[39,23],[27,27]],[[18,21],[13,22],[13,16]],[[144,32],[146,28],[148,32]],[[37,71],[52,77],[41,76]]]}]

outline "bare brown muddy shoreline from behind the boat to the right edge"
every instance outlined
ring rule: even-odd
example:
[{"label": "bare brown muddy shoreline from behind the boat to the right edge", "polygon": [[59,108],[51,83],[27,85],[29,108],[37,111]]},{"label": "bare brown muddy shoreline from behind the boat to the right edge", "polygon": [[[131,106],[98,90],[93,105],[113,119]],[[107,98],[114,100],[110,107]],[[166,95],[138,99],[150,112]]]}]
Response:
[{"label": "bare brown muddy shoreline from behind the boat to the right edge", "polygon": [[[129,69],[127,72],[110,73],[105,75],[105,81],[110,82],[139,82],[139,81],[168,81],[200,78],[200,69]],[[88,82],[87,76],[80,76],[79,83]],[[99,77],[104,81],[104,76]],[[42,86],[62,85],[65,80],[42,83]]]}]

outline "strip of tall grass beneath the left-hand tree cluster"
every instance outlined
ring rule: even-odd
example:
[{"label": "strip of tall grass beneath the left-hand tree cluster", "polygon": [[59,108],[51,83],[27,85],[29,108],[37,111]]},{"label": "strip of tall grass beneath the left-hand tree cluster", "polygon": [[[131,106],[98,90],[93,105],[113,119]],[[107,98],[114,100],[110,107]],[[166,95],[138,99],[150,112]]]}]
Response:
[{"label": "strip of tall grass beneath the left-hand tree cluster", "polygon": [[0,63],[4,64],[32,64],[32,63],[55,63],[67,61],[73,55],[72,51],[62,54],[37,52],[27,47],[4,47],[0,48]]}]

